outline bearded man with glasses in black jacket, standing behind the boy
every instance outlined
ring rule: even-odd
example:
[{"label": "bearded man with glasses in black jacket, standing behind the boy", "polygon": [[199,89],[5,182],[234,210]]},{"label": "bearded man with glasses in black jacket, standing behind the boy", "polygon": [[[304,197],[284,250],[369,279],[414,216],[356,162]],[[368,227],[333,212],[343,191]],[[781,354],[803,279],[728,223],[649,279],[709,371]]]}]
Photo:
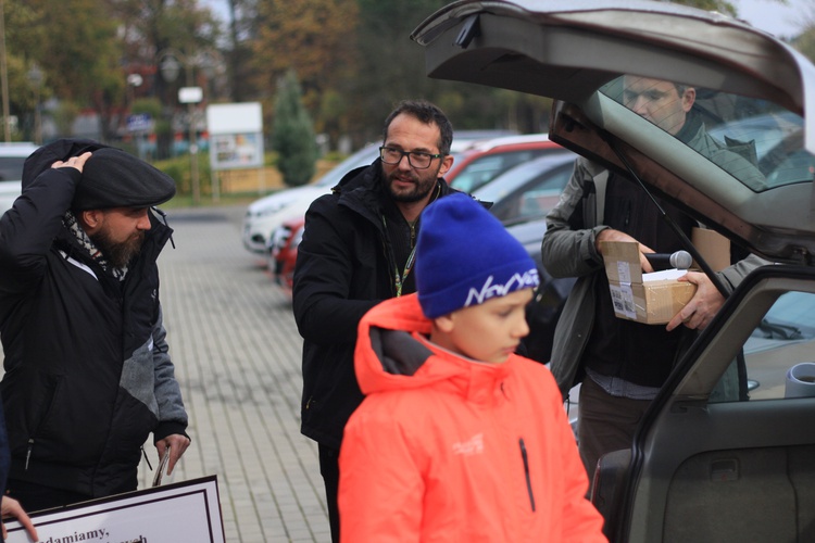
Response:
[{"label": "bearded man with glasses in black jacket, standing behind the boy", "polygon": [[356,326],[378,302],[415,292],[419,214],[449,194],[453,128],[425,101],[404,101],[385,121],[379,157],[348,173],[305,214],[293,311],[303,337],[302,425],[319,450],[331,540],[342,430],[362,402],[353,368]]}]

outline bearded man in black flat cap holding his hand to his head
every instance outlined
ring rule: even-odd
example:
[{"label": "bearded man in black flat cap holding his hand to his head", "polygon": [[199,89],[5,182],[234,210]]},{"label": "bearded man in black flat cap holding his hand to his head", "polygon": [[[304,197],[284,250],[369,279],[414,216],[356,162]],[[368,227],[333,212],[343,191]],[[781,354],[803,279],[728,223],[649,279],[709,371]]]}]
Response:
[{"label": "bearded man in black flat cap holding his hand to his head", "polygon": [[32,154],[0,218],[8,494],[26,510],[136,490],[152,432],[172,472],[187,414],[159,302],[173,179],[118,149],[63,139]]}]

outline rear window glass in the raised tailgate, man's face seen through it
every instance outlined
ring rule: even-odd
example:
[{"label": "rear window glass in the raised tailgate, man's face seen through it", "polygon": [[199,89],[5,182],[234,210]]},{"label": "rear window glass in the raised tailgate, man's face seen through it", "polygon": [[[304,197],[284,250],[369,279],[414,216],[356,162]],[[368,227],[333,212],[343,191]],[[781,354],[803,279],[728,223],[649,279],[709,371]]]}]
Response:
[{"label": "rear window glass in the raised tailgate, man's face seen through it", "polygon": [[755,192],[812,181],[803,118],[766,100],[620,76],[601,92],[673,135]]}]

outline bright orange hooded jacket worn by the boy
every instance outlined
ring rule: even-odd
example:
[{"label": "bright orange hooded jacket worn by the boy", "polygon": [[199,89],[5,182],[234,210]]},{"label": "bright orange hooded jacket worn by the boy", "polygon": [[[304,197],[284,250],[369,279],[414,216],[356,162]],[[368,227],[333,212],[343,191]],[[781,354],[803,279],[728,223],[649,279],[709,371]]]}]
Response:
[{"label": "bright orange hooded jacket worn by the boy", "polygon": [[430,327],[415,294],[360,323],[342,543],[606,541],[549,370],[468,361],[429,343]]}]

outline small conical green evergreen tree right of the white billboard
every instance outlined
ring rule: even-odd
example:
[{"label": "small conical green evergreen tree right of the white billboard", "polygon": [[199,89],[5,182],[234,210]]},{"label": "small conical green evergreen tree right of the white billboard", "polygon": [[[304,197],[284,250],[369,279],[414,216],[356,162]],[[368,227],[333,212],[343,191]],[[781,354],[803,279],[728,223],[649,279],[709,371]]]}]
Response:
[{"label": "small conical green evergreen tree right of the white billboard", "polygon": [[309,112],[293,70],[279,81],[275,101],[272,146],[278,152],[277,169],[286,185],[305,185],[314,175],[317,146]]}]

